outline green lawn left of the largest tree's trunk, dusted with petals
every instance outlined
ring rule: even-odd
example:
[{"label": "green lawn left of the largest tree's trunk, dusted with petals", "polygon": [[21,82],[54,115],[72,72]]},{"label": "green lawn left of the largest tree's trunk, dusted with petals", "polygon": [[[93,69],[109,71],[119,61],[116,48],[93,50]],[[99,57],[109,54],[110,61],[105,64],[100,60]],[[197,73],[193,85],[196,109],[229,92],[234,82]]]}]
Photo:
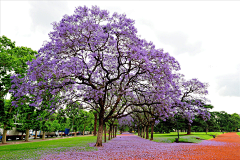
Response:
[{"label": "green lawn left of the largest tree's trunk, dusted with petals", "polygon": [[[63,138],[42,142],[22,143],[0,146],[0,159],[39,159],[43,154],[61,151],[96,151],[88,143],[96,143],[97,136]],[[104,140],[104,137],[103,137]],[[107,137],[108,141],[108,137]]]}]

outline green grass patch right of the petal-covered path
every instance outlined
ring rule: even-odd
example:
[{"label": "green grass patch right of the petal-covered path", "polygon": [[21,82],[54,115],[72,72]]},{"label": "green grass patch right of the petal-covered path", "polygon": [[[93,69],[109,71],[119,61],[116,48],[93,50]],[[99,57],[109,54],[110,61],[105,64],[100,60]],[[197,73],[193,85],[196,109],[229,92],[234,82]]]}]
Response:
[{"label": "green grass patch right of the petal-covered path", "polygon": [[[187,132],[179,132],[179,142],[199,143],[201,142],[201,140],[196,139],[196,137],[199,137],[202,140],[208,140],[213,138],[213,136],[210,136],[210,135],[215,135],[217,137],[222,133],[208,132],[208,134],[206,134],[205,132],[192,132],[191,135],[185,135],[185,134],[187,134]],[[149,138],[150,137],[151,137],[151,134],[149,134]],[[173,143],[175,141],[175,138],[177,138],[177,132],[153,135],[153,141],[160,142],[160,143]]]}]

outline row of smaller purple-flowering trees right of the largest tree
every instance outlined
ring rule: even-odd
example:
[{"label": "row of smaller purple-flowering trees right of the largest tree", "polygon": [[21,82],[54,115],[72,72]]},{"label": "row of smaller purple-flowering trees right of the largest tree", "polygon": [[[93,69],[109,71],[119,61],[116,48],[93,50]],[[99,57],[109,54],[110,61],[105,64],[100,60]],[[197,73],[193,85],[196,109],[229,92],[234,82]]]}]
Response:
[{"label": "row of smaller purple-flowering trees right of the largest tree", "polygon": [[[180,76],[179,76],[180,77]],[[141,105],[131,107],[133,112],[131,116],[121,118],[119,120],[120,126],[132,126],[135,125],[138,128],[138,135],[149,139],[148,130],[151,127],[151,139],[153,140],[154,126],[157,125],[159,120],[166,121],[166,119],[186,119],[188,122],[188,133],[191,134],[191,123],[196,116],[207,121],[210,119],[209,109],[212,107],[206,104],[207,99],[204,95],[207,94],[207,84],[203,84],[197,79],[191,79],[186,81],[181,75],[178,84],[181,86],[180,96],[176,99],[172,99],[172,103],[165,103],[166,99],[162,99],[162,106],[153,105]],[[167,98],[167,95],[165,96]],[[159,105],[159,104],[158,104]],[[170,105],[170,107],[167,107]],[[142,128],[140,131],[139,128]]]}]

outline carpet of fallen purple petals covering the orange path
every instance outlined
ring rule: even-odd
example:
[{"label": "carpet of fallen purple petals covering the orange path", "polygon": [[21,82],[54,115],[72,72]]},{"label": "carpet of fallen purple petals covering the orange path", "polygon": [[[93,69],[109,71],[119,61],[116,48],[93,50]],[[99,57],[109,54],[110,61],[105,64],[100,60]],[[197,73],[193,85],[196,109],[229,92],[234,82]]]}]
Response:
[{"label": "carpet of fallen purple petals covering the orange path", "polygon": [[[95,143],[90,143],[90,147],[94,147]],[[117,136],[108,143],[103,143],[103,147],[99,147],[98,151],[92,152],[62,152],[59,154],[50,154],[42,158],[42,160],[53,159],[176,159],[185,158],[196,154],[196,147],[200,146],[229,146],[234,145],[232,143],[218,142],[218,141],[202,141],[201,143],[157,143],[147,139],[140,138],[138,136],[123,133]],[[235,144],[239,147],[238,144]],[[156,154],[157,153],[157,154]],[[202,154],[202,158],[205,156],[203,152],[197,152],[198,156]],[[157,157],[156,157],[157,156]]]}]

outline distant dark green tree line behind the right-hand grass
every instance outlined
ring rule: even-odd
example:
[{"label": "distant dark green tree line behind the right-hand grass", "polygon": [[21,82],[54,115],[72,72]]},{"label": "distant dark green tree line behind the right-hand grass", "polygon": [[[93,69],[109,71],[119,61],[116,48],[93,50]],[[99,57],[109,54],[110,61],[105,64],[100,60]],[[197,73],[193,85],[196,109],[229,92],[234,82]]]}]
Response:
[{"label": "distant dark green tree line behind the right-hand grass", "polygon": [[[228,114],[225,111],[213,111],[209,112],[211,118],[204,121],[200,116],[196,115],[191,123],[191,132],[238,132],[240,129],[240,115],[237,113]],[[125,121],[127,121],[125,119]],[[145,119],[146,121],[146,119]],[[139,122],[144,122],[144,116],[142,120],[139,121],[128,121],[121,125],[122,131],[136,131],[141,134],[141,130],[144,132],[144,125],[139,125]],[[189,125],[188,121],[182,117],[171,117],[169,119],[158,120],[157,124],[154,126],[155,133],[170,133],[177,131],[177,122],[180,132],[188,132]],[[147,121],[145,122],[147,124]],[[139,126],[139,131],[138,127]],[[151,128],[148,128],[148,133],[151,132]]]}]

